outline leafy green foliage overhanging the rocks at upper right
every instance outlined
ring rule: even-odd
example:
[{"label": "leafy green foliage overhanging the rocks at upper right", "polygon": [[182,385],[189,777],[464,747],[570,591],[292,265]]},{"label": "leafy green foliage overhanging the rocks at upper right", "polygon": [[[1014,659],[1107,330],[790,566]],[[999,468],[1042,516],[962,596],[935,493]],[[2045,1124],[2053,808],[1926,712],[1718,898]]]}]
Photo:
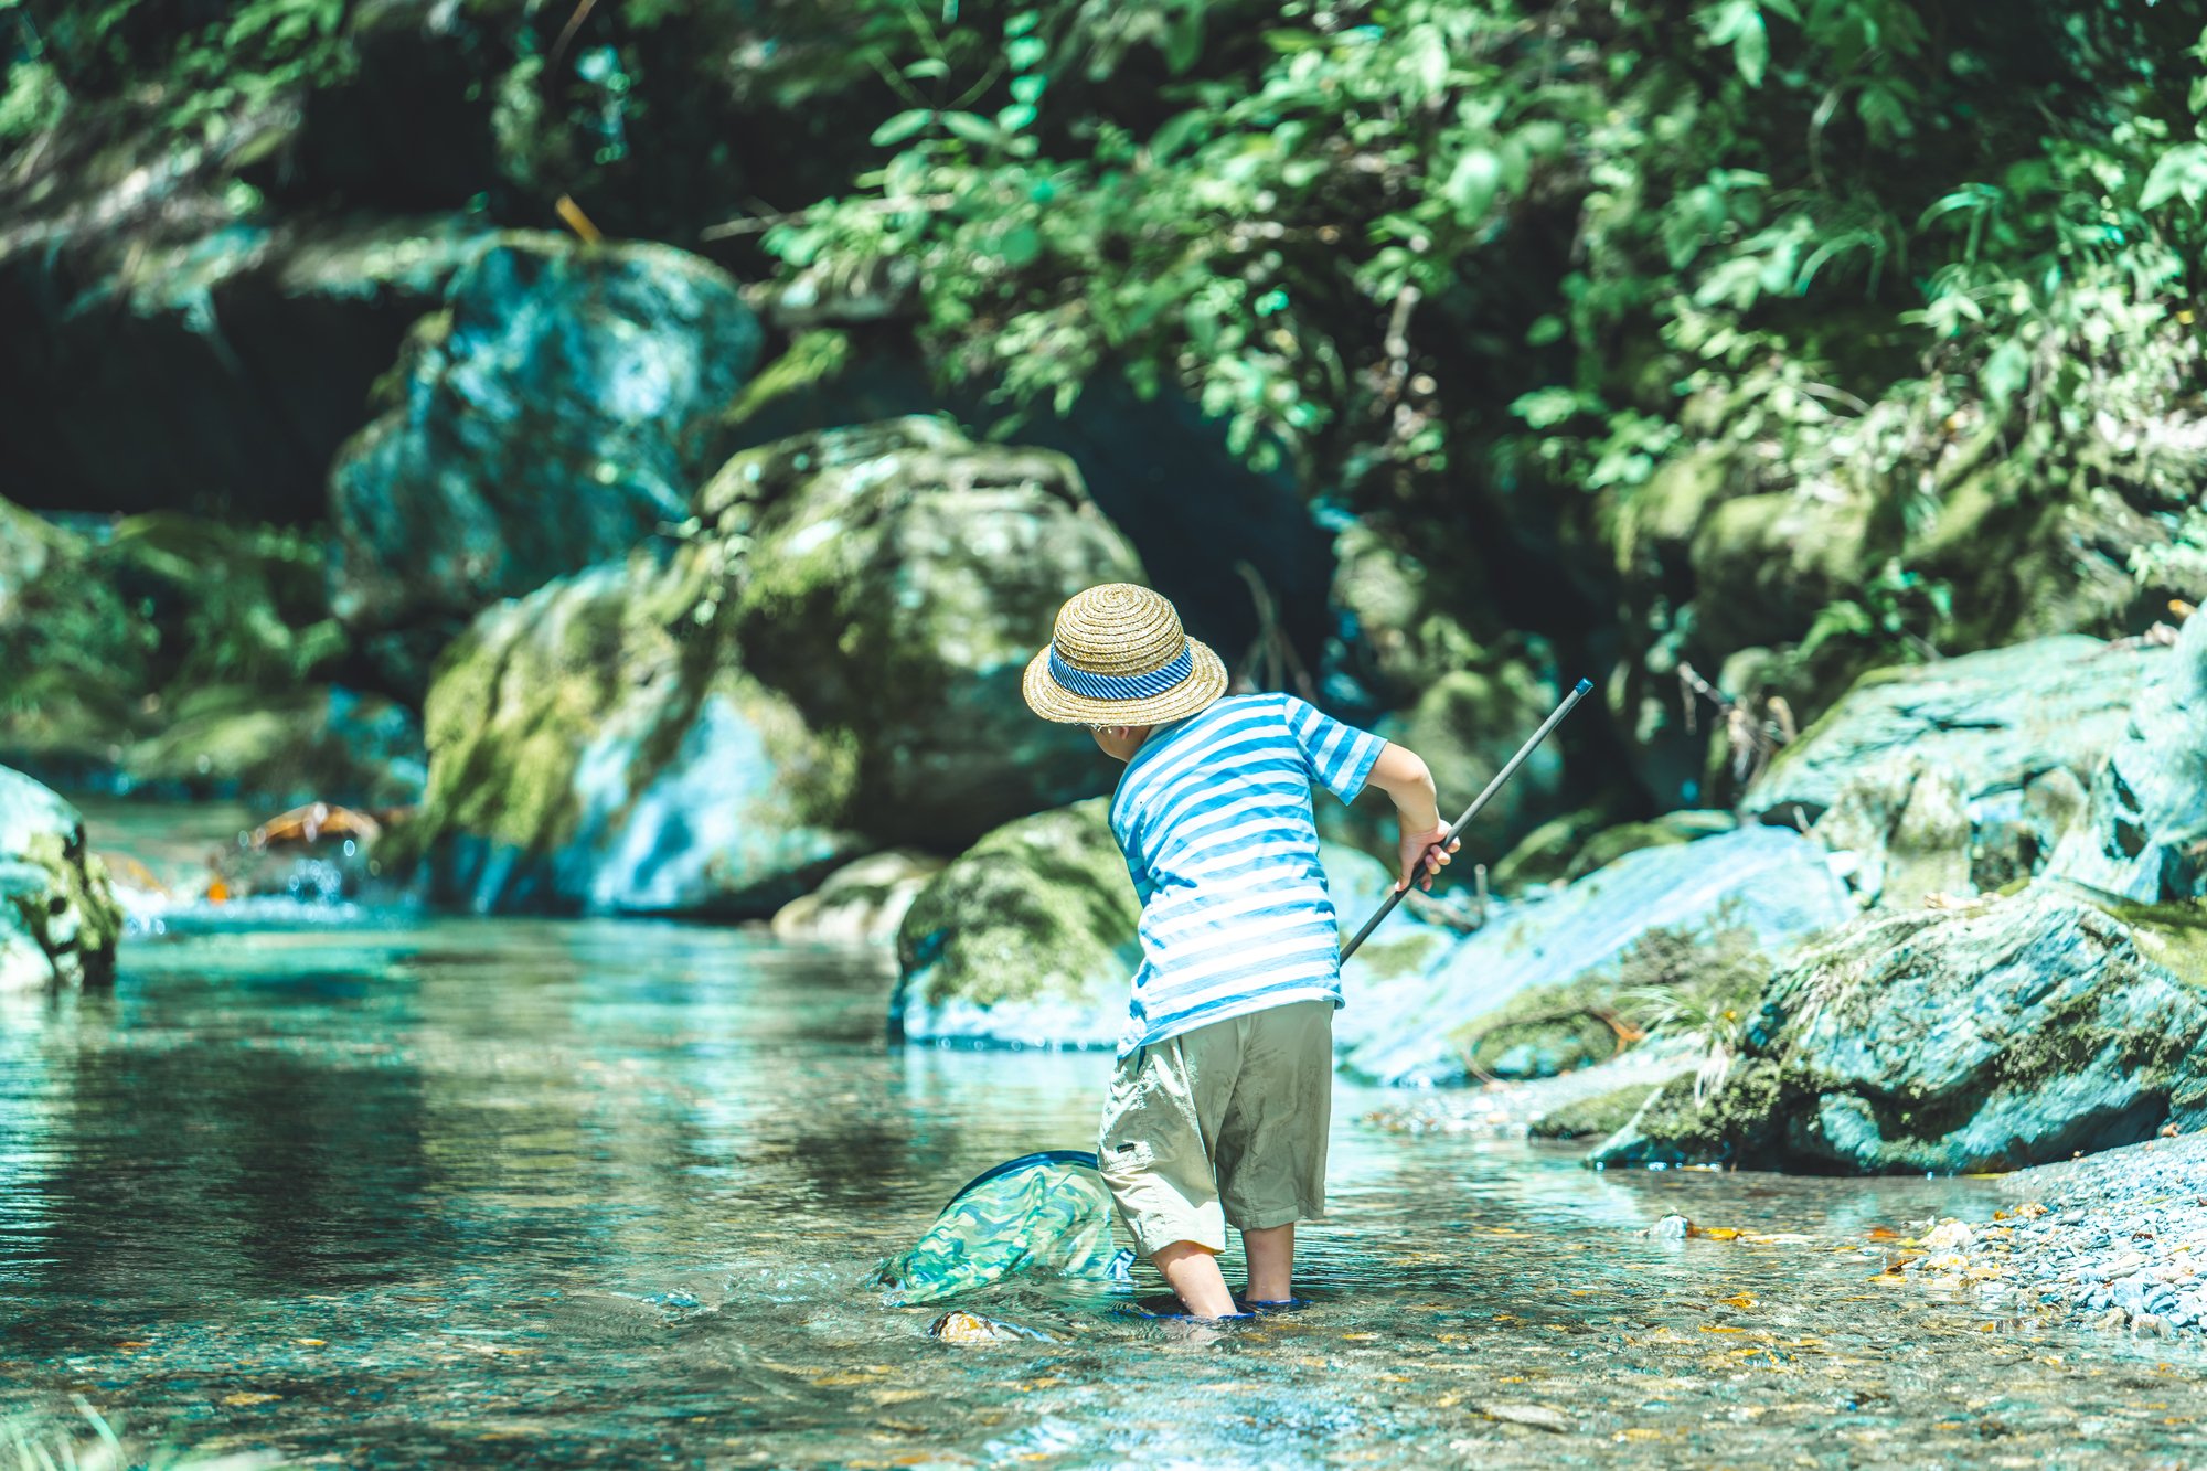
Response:
[{"label": "leafy green foliage overhanging the rocks at upper right", "polygon": [[[1613,506],[1732,446],[1726,495],[1880,506],[1865,583],[1772,629],[1854,663],[1962,636],[1933,541],[1986,459],[2000,501],[2086,477],[2169,537],[2196,499],[2132,433],[2200,371],[2189,7],[859,9],[905,106],[768,247],[896,267],[940,371],[1013,409],[1119,371],[1362,508]],[[1613,515],[1563,506],[1567,539]]]}]

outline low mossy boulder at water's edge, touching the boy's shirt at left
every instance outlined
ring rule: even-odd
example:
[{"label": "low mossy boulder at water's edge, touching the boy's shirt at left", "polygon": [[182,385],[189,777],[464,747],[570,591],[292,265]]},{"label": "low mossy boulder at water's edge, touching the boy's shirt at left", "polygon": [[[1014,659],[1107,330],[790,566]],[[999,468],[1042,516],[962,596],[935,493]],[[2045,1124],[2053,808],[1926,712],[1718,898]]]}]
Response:
[{"label": "low mossy boulder at water's edge, touching the boy's shirt at left", "polygon": [[1110,1047],[1141,965],[1141,901],[1092,797],[1009,822],[920,890],[896,936],[889,1031],[911,1043]]}]

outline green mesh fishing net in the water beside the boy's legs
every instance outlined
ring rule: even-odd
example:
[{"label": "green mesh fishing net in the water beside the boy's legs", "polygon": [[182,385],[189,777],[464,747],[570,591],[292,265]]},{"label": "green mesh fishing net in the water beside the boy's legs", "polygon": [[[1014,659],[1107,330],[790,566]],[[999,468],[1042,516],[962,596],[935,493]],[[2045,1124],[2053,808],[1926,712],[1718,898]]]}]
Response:
[{"label": "green mesh fishing net in the water beside the boy's legs", "polygon": [[1134,1252],[1110,1241],[1110,1190],[1097,1157],[1070,1149],[987,1171],[942,1206],[911,1250],[874,1281],[892,1303],[940,1303],[1009,1277],[1055,1277],[1099,1292],[1132,1283]]}]

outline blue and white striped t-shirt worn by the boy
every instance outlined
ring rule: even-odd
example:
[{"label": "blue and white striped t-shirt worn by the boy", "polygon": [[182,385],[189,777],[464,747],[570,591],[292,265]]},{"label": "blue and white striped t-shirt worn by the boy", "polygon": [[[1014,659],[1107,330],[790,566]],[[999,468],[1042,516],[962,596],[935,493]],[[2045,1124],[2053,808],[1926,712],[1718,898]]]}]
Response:
[{"label": "blue and white striped t-shirt worn by the boy", "polygon": [[1382,747],[1284,694],[1218,700],[1141,742],[1110,804],[1141,897],[1121,1058],[1291,1001],[1342,1005],[1311,782],[1351,802]]}]

